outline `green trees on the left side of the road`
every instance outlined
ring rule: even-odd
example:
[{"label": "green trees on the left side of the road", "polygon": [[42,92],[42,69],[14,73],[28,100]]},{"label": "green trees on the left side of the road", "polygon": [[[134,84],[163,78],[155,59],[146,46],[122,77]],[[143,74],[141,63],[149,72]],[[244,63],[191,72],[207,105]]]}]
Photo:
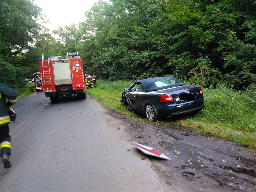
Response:
[{"label": "green trees on the left side of the road", "polygon": [[13,88],[25,85],[23,77],[38,60],[34,44],[42,30],[41,8],[30,0],[0,1],[0,76]]}]

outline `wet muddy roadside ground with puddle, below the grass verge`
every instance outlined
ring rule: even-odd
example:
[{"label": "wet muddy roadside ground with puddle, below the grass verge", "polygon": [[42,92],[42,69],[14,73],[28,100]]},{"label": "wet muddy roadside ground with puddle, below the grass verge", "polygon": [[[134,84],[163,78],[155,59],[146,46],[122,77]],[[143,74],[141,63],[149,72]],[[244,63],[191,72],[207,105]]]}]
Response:
[{"label": "wet muddy roadside ground with puddle, below the grass verge", "polygon": [[133,142],[155,148],[171,158],[162,160],[137,149],[170,186],[180,185],[181,191],[256,191],[256,156],[247,148],[179,130],[175,124],[162,128],[110,113],[129,127],[125,131]]}]

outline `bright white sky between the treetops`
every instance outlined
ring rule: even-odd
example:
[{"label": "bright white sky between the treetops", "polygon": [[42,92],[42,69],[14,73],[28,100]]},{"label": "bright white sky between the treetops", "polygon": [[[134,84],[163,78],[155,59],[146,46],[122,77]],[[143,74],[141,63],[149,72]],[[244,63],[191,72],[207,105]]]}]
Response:
[{"label": "bright white sky between the treetops", "polygon": [[70,26],[84,20],[84,13],[98,0],[35,0],[34,4],[43,9],[45,20],[51,23],[45,25],[51,32],[58,26]]}]

